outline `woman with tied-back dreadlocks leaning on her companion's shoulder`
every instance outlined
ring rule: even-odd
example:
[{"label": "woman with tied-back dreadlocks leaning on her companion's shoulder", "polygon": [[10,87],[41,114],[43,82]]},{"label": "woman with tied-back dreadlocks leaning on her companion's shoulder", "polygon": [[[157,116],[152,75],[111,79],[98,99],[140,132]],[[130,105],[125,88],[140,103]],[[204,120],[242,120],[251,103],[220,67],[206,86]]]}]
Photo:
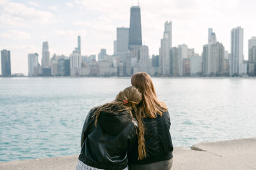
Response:
[{"label": "woman with tied-back dreadlocks leaning on her companion's shoulder", "polygon": [[128,169],[127,155],[135,143],[138,159],[145,155],[143,123],[137,109],[140,102],[140,91],[131,86],[120,91],[113,102],[94,107],[88,113],[77,170]]}]

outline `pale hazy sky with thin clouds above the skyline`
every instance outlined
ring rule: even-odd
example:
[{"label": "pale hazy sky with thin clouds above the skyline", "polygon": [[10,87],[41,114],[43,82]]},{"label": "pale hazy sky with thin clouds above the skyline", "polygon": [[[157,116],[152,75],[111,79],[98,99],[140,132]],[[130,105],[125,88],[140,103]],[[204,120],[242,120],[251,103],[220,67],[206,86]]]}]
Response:
[{"label": "pale hazy sky with thin clouds above the skyline", "polygon": [[[0,50],[11,50],[12,73],[28,74],[28,54],[42,58],[42,42],[50,55],[69,56],[81,35],[82,55],[107,49],[113,54],[116,27],[129,27],[131,0],[8,1],[0,0]],[[255,0],[141,0],[143,45],[159,53],[164,22],[172,20],[173,46],[185,43],[201,54],[209,27],[230,51],[230,31],[244,28],[244,59],[248,39],[256,36]],[[0,65],[1,66],[1,65]],[[1,69],[0,69],[1,72]]]}]

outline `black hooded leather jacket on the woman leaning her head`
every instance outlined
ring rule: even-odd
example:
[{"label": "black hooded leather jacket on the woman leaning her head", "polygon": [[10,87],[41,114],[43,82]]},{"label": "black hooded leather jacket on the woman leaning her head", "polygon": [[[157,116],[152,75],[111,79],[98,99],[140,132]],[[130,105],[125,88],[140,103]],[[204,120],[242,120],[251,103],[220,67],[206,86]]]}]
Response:
[{"label": "black hooded leather jacket on the woman leaning her head", "polygon": [[[114,107],[114,110],[120,106]],[[129,112],[100,112],[95,127],[92,109],[84,122],[79,160],[99,169],[124,169],[136,142],[136,121]]]}]

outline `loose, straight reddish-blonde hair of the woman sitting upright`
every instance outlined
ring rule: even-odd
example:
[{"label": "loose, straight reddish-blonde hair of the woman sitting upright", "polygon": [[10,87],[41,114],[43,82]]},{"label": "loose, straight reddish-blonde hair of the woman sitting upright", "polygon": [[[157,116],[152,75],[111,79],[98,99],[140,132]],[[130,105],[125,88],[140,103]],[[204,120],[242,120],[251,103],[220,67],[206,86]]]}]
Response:
[{"label": "loose, straight reddish-blonde hair of the woman sitting upright", "polygon": [[148,73],[134,73],[131,83],[141,92],[142,99],[138,108],[143,118],[156,118],[157,114],[162,116],[162,112],[167,111],[166,104],[157,99],[153,82]]}]

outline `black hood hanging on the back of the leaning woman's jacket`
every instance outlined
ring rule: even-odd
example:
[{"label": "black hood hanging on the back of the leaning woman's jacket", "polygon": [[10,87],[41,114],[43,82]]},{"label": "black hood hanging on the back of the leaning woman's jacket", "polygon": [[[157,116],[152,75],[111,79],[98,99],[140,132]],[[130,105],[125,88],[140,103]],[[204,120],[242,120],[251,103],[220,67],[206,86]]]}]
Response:
[{"label": "black hood hanging on the back of the leaning woman's jacket", "polygon": [[119,134],[132,121],[132,116],[128,111],[118,112],[119,109],[124,109],[124,107],[114,106],[111,112],[100,112],[99,124],[109,135]]}]

